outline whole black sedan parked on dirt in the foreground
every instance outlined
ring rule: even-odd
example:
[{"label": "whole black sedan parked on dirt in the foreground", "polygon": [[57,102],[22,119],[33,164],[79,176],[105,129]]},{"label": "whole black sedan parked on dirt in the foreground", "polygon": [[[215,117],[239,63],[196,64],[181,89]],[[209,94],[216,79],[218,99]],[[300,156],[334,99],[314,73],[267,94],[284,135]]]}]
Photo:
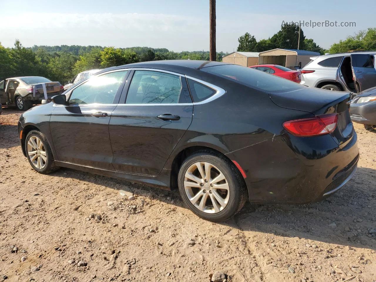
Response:
[{"label": "whole black sedan parked on dirt in the foreground", "polygon": [[252,203],[310,203],[355,173],[350,94],[239,65],[154,61],[108,68],[24,112],[32,168],[74,168],[167,190],[223,221]]}]

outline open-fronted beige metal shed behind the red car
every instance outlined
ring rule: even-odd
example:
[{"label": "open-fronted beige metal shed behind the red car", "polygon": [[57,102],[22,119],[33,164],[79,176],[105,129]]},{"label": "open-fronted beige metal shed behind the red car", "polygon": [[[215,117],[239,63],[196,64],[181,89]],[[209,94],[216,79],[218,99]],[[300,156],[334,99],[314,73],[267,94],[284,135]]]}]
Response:
[{"label": "open-fronted beige metal shed behind the red car", "polygon": [[295,66],[304,67],[311,61],[311,57],[320,56],[320,53],[306,50],[273,49],[259,53],[259,65],[282,65],[294,70]]}]

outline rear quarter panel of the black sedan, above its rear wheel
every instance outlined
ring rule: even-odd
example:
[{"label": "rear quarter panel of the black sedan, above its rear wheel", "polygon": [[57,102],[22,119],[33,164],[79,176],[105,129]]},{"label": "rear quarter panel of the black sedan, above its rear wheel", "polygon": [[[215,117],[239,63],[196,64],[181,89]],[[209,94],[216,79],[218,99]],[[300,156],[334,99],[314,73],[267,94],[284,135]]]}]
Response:
[{"label": "rear quarter panel of the black sedan, above its rear wheel", "polygon": [[165,169],[171,169],[174,157],[187,147],[205,146],[228,155],[280,135],[284,132],[284,121],[312,116],[308,112],[281,108],[267,93],[238,83],[229,82],[225,90],[226,94],[212,102],[194,105],[191,126]]}]

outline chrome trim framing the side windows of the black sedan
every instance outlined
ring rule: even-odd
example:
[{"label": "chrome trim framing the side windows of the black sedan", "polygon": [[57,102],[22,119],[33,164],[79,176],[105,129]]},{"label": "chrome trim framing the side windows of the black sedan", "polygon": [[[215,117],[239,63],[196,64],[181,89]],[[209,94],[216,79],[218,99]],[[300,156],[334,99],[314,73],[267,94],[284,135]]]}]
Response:
[{"label": "chrome trim framing the side windows of the black sedan", "polygon": [[[185,77],[186,79],[191,79],[191,80],[194,80],[196,82],[199,82],[205,86],[208,86],[209,88],[212,88],[214,89],[216,92],[214,95],[210,96],[208,99],[205,99],[201,102],[193,102],[193,103],[166,103],[166,104],[163,104],[163,103],[155,103],[155,104],[84,104],[84,105],[56,105],[55,103],[53,104],[53,107],[72,107],[72,106],[80,106],[80,107],[95,107],[95,106],[192,106],[192,105],[202,105],[202,104],[206,104],[206,103],[209,103],[209,102],[212,102],[216,99],[218,99],[219,97],[223,96],[225,93],[226,93],[226,90],[224,90],[223,88],[217,86],[217,85],[214,85],[212,83],[209,83],[209,82],[206,82],[204,80],[201,80],[201,79],[198,79],[196,77],[192,77],[192,76],[187,76],[185,74],[180,74],[180,73],[175,73],[173,71],[167,71],[167,70],[160,70],[158,68],[121,68],[121,69],[117,69],[117,70],[111,70],[111,71],[107,71],[105,73],[100,73],[98,76],[102,75],[102,74],[107,74],[107,73],[112,73],[112,72],[115,72],[115,71],[129,71],[129,70],[144,70],[144,71],[156,71],[156,72],[160,72],[160,73],[168,73],[168,74],[173,74],[173,75],[176,75],[176,76],[180,76],[180,77]],[[94,75],[94,76],[97,76],[97,75]],[[93,76],[91,76],[93,77]],[[70,94],[71,92],[78,86],[80,86],[82,83],[86,82],[86,80],[88,80],[89,78],[81,81],[80,83],[78,83],[77,85],[74,86],[74,88],[70,89],[70,91],[68,91],[65,95],[69,94],[69,97],[70,97]]]}]

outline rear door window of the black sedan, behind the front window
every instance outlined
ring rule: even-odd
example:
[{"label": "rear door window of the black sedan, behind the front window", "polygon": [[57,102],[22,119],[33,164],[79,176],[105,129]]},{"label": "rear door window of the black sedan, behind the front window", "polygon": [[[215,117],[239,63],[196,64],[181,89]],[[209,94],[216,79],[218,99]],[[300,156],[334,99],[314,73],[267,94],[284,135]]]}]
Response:
[{"label": "rear door window of the black sedan, behind the front window", "polygon": [[[182,92],[180,76],[160,71],[136,70],[126,104],[176,104]],[[182,98],[185,99],[182,94]]]}]

